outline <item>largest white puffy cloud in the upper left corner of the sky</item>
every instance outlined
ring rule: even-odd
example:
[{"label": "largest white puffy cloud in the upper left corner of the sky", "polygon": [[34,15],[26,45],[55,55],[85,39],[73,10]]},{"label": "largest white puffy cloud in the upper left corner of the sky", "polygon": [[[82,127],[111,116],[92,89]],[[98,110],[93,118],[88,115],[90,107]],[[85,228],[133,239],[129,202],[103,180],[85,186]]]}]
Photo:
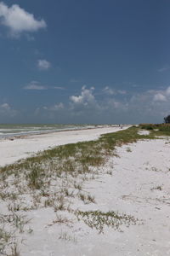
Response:
[{"label": "largest white puffy cloud in the upper left corner of the sky", "polygon": [[21,32],[37,32],[47,26],[45,20],[36,20],[34,15],[21,9],[18,4],[8,7],[3,2],[0,3],[0,21],[15,36],[20,35]]}]

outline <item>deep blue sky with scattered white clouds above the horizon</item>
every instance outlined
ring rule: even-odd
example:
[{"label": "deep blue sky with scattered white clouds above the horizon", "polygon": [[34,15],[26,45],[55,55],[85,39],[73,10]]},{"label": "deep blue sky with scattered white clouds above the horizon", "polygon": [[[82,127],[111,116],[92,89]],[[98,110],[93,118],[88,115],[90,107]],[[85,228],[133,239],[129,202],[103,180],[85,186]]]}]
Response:
[{"label": "deep blue sky with scattered white clouds above the horizon", "polygon": [[161,123],[169,0],[0,1],[0,123]]}]

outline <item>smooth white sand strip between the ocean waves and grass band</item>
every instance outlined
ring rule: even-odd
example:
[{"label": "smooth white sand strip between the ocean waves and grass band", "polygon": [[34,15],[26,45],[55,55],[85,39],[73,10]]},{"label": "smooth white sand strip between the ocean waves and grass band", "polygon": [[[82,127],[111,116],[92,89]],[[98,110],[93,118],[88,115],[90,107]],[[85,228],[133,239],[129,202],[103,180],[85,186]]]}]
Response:
[{"label": "smooth white sand strip between the ocean waves and grass band", "polygon": [[[127,129],[124,126],[122,129]],[[12,140],[0,140],[0,166],[14,163],[16,160],[31,156],[33,153],[64,145],[91,141],[99,138],[101,134],[121,131],[120,127],[104,127],[79,131],[61,131],[41,135],[31,135]]]}]

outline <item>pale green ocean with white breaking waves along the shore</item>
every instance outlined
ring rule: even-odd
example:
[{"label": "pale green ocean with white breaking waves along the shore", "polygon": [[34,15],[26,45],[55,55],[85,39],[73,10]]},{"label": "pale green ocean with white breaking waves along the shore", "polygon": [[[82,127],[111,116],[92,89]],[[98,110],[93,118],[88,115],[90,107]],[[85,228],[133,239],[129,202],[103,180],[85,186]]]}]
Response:
[{"label": "pale green ocean with white breaking waves along the shore", "polygon": [[95,125],[0,125],[0,138],[93,128]]}]

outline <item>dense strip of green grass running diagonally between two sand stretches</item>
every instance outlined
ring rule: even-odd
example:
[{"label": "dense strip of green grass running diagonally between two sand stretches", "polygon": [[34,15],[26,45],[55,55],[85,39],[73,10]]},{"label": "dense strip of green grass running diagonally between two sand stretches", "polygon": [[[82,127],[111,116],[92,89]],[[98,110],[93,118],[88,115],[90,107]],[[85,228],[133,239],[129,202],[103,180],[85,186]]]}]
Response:
[{"label": "dense strip of green grass running diagonally between two sand stretches", "polygon": [[[167,128],[165,129],[166,131],[150,131],[148,136],[139,135],[138,131],[143,127],[144,125],[140,127],[134,126],[124,131],[105,134],[96,141],[67,144],[45,150],[34,157],[0,168],[0,175],[4,184],[8,176],[14,175],[17,183],[22,175],[22,179],[26,180],[25,190],[26,187],[30,191],[42,190],[50,186],[52,177],[59,179],[92,173],[92,167],[104,165],[106,156],[115,154],[114,149],[116,146],[133,143],[140,139],[152,139],[156,136],[167,135],[167,132],[170,135],[170,131],[166,130]],[[161,127],[160,129],[163,128]],[[20,193],[22,191],[16,192],[17,195],[20,195]],[[0,195],[3,198],[1,189]]]}]

